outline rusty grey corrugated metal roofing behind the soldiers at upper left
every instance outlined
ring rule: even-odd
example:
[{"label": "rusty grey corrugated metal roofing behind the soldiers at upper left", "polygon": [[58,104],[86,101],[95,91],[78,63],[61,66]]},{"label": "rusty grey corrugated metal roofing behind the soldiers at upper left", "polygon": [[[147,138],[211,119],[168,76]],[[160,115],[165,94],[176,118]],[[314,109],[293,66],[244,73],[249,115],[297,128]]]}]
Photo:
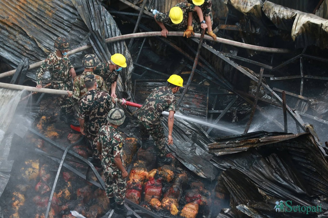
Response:
[{"label": "rusty grey corrugated metal roofing behind the soldiers at upper left", "polygon": [[[133,65],[130,53],[124,41],[110,45],[104,43],[105,38],[121,33],[113,17],[98,1],[5,0],[0,1],[0,8],[0,55],[13,68],[23,57],[29,58],[30,63],[44,60],[54,50],[54,40],[66,36],[72,48],[91,44],[102,61],[114,53],[125,55],[128,67],[122,70],[117,87],[131,95],[129,81]],[[94,51],[89,49],[72,55],[72,64],[80,67],[83,56]],[[27,76],[35,79],[35,72],[29,71]]]}]

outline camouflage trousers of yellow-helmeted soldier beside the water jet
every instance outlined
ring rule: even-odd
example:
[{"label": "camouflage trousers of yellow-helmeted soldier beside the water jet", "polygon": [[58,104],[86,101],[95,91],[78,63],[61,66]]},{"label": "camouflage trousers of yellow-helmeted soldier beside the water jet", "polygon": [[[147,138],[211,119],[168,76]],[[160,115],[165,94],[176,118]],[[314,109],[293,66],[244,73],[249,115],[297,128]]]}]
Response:
[{"label": "camouflage trousers of yellow-helmeted soldier beside the water jet", "polygon": [[148,139],[149,136],[152,136],[156,147],[158,148],[158,156],[165,156],[166,153],[166,143],[165,143],[165,136],[164,136],[164,128],[161,124],[154,125],[149,128],[147,126],[146,122],[143,122],[141,120],[138,120],[139,128],[140,128],[140,134],[142,140]]}]

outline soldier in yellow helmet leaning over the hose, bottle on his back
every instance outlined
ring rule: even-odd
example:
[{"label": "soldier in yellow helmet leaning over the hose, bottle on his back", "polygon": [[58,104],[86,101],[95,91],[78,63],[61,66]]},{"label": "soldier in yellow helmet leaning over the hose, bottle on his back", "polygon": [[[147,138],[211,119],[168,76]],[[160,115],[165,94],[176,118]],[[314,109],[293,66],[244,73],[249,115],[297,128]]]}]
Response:
[{"label": "soldier in yellow helmet leaning over the hose, bottle on his back", "polygon": [[[193,12],[196,12],[199,21],[193,18]],[[189,18],[190,19],[189,19]],[[202,10],[193,4],[187,2],[181,2],[176,4],[169,12],[163,14],[158,13],[154,16],[156,23],[162,28],[161,35],[166,37],[169,31],[166,29],[163,23],[172,25],[175,29],[184,31],[183,36],[187,38],[191,37],[191,34],[195,32],[200,33],[201,29],[206,29],[207,25],[203,18]]]}]

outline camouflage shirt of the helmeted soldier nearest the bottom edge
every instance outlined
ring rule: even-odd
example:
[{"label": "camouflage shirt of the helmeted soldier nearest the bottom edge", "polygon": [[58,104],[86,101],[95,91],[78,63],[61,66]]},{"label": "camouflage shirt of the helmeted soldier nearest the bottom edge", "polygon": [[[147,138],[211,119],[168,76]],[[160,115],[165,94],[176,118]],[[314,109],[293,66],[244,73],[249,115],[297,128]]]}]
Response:
[{"label": "camouflage shirt of the helmeted soldier nearest the bottom edge", "polygon": [[[115,164],[114,158],[120,156],[124,166],[124,160],[122,158],[124,138],[113,126],[102,126],[99,129],[98,142],[102,145],[101,155],[102,163],[105,167],[104,170],[109,173],[120,172]],[[115,155],[114,152],[116,152]]]}]

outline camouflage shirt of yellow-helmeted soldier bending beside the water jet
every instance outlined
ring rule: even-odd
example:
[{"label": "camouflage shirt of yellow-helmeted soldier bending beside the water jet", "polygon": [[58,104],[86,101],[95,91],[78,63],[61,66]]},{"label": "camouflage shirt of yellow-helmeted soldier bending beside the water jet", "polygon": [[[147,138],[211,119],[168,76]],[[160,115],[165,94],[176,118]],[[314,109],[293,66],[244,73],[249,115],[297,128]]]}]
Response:
[{"label": "camouflage shirt of yellow-helmeted soldier bending beside the water jet", "polygon": [[162,112],[166,109],[175,111],[176,98],[168,86],[155,88],[147,97],[138,111],[138,120],[147,125],[147,129],[153,129],[160,124]]}]

